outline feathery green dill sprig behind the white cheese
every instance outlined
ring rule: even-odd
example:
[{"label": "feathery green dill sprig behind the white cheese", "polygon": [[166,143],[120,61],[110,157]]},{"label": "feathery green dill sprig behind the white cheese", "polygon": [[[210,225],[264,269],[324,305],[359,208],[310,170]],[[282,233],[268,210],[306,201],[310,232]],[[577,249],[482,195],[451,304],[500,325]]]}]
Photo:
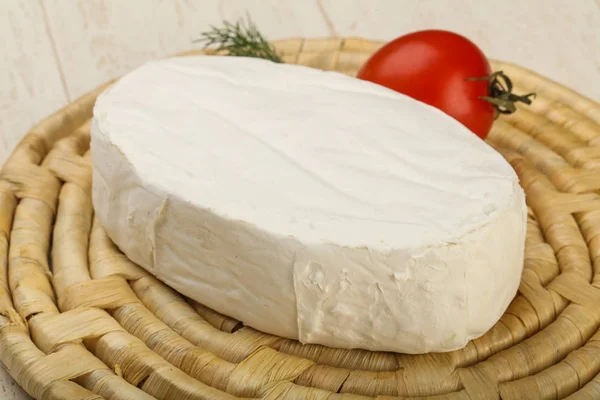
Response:
[{"label": "feathery green dill sprig behind the white cheese", "polygon": [[201,33],[195,42],[203,42],[204,48],[213,48],[216,51],[225,51],[230,56],[264,58],[276,63],[282,63],[281,57],[259,32],[248,17],[247,23],[243,20],[231,23],[223,21],[223,27],[211,26],[210,30]]}]

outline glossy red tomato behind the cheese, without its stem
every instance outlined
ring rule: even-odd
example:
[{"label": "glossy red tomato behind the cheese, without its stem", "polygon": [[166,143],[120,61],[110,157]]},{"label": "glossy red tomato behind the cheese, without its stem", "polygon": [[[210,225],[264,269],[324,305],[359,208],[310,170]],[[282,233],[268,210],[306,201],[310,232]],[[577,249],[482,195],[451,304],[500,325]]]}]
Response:
[{"label": "glossy red tomato behind the cheese, without its stem", "polygon": [[483,52],[456,33],[427,30],[401,36],[379,49],[358,78],[439,108],[485,139],[494,122],[489,83],[469,81],[491,73]]}]

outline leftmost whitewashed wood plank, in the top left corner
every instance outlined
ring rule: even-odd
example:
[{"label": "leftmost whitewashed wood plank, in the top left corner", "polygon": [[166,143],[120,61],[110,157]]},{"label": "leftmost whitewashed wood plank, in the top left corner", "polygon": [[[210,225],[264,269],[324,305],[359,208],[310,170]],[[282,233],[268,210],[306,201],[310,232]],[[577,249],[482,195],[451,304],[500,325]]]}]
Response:
[{"label": "leftmost whitewashed wood plank, in the top left corner", "polygon": [[67,104],[38,1],[0,1],[0,165],[37,121]]}]

